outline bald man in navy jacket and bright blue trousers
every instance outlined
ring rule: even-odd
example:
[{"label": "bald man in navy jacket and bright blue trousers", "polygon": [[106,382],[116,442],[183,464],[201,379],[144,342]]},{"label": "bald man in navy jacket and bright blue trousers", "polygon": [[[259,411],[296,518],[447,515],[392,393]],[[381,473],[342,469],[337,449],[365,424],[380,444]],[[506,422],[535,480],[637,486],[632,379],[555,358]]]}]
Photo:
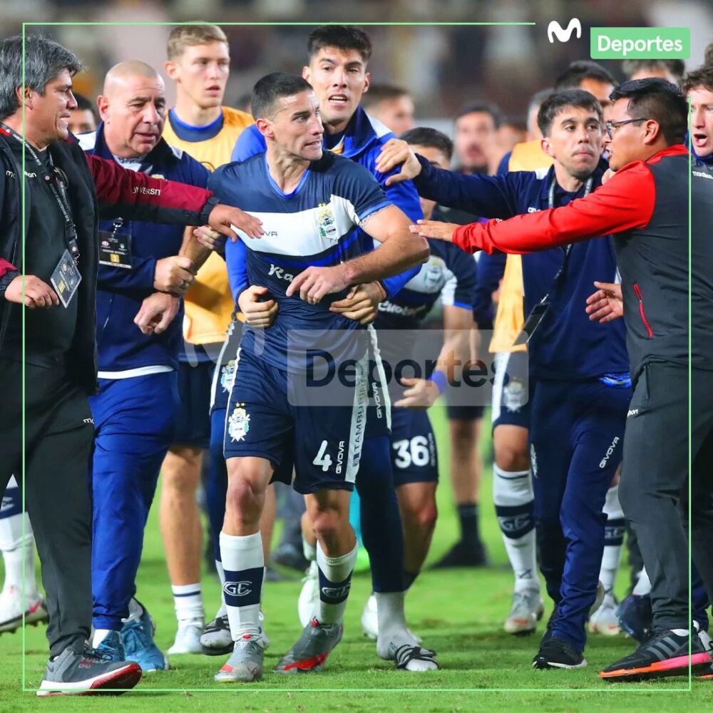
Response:
[{"label": "bald man in navy jacket and bright blue trousers", "polygon": [[[164,86],[152,67],[130,61],[111,68],[97,104],[100,125],[79,137],[86,153],[205,188],[207,170],[161,138]],[[153,620],[134,598],[135,576],[158,472],[173,442],[182,296],[207,257],[192,252],[191,259],[182,250],[193,250],[183,227],[121,217],[99,225],[99,391],[90,399],[92,645],[144,671],[168,668],[153,642]]]}]

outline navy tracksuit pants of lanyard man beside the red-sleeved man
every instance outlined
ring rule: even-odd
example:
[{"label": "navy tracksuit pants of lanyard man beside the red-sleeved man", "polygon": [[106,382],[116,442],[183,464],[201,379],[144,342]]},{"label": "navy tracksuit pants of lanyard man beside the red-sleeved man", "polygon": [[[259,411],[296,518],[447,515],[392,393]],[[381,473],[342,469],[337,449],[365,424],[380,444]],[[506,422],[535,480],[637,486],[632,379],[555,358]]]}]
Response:
[{"label": "navy tracksuit pants of lanyard man beside the red-sleeved man", "polygon": [[604,551],[607,490],[622,457],[631,389],[538,379],[530,456],[540,570],[557,605],[552,633],[584,650]]}]

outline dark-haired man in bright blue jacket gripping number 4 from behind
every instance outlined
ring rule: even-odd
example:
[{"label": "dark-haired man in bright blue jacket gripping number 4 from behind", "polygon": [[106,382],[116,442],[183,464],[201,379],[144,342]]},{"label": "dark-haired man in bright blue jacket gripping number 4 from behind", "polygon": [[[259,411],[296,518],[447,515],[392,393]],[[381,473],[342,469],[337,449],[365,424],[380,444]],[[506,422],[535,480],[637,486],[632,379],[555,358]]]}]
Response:
[{"label": "dark-haired man in bright blue jacket gripping number 4 from behind", "polygon": [[[372,119],[359,106],[364,91],[369,88],[369,72],[367,71],[371,57],[371,40],[364,31],[351,26],[323,26],[315,29],[307,40],[309,63],[302,69],[302,76],[309,81],[319,100],[319,111],[324,122],[324,146],[333,153],[344,155],[356,163],[363,165],[374,175],[386,196],[403,210],[409,217],[421,216],[419,195],[414,186],[404,181],[386,186],[388,175],[376,170],[376,158],[381,146],[393,138],[393,134],[381,124]],[[265,140],[256,127],[248,128],[242,134],[233,151],[235,160],[245,160],[255,153],[265,150]],[[358,231],[359,232],[359,231]],[[374,241],[369,236],[359,235],[364,241],[364,250],[371,250]],[[354,309],[361,309],[359,302],[366,299],[369,308],[378,304],[384,297],[393,297],[406,282],[416,275],[418,270],[409,270],[402,275],[386,278],[381,285],[371,283],[361,286],[350,299],[339,300],[332,309],[339,309],[343,316],[358,318]],[[363,316],[360,314],[359,317]],[[374,391],[382,391],[381,386],[374,381],[371,384]],[[375,399],[374,399],[375,400]],[[364,546],[369,552],[371,563],[371,579],[374,587],[377,605],[376,619],[381,621],[379,627],[365,627],[369,635],[376,635],[376,629],[381,630],[382,645],[377,640],[377,651],[382,652],[389,646],[389,640],[399,641],[399,647],[404,646],[404,667],[408,670],[419,670],[418,660],[410,657],[421,656],[416,640],[406,632],[404,623],[404,566],[403,566],[403,534],[399,520],[399,506],[396,494],[391,485],[389,423],[388,408],[377,409],[372,404],[369,409],[369,419],[366,424],[364,451],[361,458],[361,469],[357,478],[356,489],[361,498],[361,523]],[[311,560],[308,575],[304,584],[300,601],[307,605],[299,607],[304,613],[304,619],[309,621],[312,606],[309,601],[315,601],[317,593],[316,550],[312,533],[304,533],[304,550],[307,559]],[[406,575],[407,576],[407,575]],[[374,598],[369,598],[364,609],[366,619],[374,619]],[[301,614],[302,618],[302,614]],[[428,650],[424,650],[428,651]],[[430,655],[426,654],[430,658]],[[397,664],[399,661],[397,660]],[[430,665],[431,661],[426,662]]]}]

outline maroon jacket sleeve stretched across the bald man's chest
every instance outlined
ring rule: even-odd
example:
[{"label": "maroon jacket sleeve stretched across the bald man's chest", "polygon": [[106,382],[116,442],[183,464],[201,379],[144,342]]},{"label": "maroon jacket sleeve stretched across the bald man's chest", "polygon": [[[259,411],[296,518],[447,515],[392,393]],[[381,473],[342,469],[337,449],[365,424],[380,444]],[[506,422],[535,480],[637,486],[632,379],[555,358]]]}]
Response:
[{"label": "maroon jacket sleeve stretched across the bald man's chest", "polygon": [[101,217],[202,225],[217,203],[212,191],[185,183],[151,178],[117,163],[85,154],[96,185]]}]

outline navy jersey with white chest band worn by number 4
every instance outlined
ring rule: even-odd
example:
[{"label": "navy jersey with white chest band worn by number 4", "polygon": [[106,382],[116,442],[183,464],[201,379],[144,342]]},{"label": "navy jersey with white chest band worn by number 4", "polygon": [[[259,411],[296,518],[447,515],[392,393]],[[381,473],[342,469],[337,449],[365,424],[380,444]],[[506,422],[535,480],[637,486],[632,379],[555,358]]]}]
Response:
[{"label": "navy jersey with white chest band worn by number 4", "polygon": [[[260,218],[265,231],[259,239],[243,233],[241,240],[228,241],[225,250],[233,282],[236,271],[231,268],[244,256],[249,284],[267,287],[279,305],[271,327],[256,332],[246,326],[240,348],[282,369],[298,365],[304,350],[312,345],[329,345],[337,361],[356,356],[356,340],[347,332],[359,329],[359,324],[329,312],[329,305],[344,293],[327,295],[311,305],[299,295],[286,297],[285,290],[307,267],[339,265],[361,255],[354,227],[391,205],[371,173],[352,160],[325,152],[309,165],[297,188],[285,194],[272,180],[265,153],[261,153],[218,168],[210,175],[208,187],[220,202]],[[233,294],[244,287],[231,284]],[[305,329],[311,330],[309,336],[299,334]],[[330,337],[329,332],[334,335]]]}]

